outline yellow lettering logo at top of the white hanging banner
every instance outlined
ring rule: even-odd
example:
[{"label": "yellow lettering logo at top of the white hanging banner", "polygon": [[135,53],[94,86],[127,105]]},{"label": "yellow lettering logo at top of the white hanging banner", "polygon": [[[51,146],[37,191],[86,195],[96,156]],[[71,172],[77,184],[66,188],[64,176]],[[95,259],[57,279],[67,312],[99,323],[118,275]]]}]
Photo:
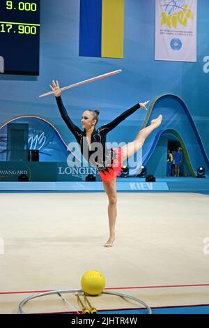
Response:
[{"label": "yellow lettering logo at top of the white hanging banner", "polygon": [[166,25],[177,29],[177,25],[180,24],[187,27],[187,20],[193,20],[193,13],[185,2],[185,0],[164,0],[160,26]]}]

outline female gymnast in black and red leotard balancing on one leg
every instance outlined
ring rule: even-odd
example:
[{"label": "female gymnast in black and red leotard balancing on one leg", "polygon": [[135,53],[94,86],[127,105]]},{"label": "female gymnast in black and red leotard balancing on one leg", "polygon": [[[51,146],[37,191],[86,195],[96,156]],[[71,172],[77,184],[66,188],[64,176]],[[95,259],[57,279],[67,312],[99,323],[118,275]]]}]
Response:
[{"label": "female gymnast in black and red leotard balancing on one leg", "polygon": [[[49,87],[52,91],[59,89],[59,82],[52,81],[52,85],[49,84]],[[79,146],[81,147],[81,152],[91,165],[97,167],[98,175],[102,179],[104,186],[104,191],[107,194],[109,199],[108,205],[108,218],[109,218],[109,239],[107,240],[104,247],[111,247],[114,244],[115,240],[115,226],[116,226],[116,217],[117,217],[117,191],[116,191],[116,178],[121,174],[123,161],[125,161],[130,156],[134,155],[144,144],[146,137],[160,126],[162,121],[162,115],[159,115],[157,119],[153,119],[149,126],[143,128],[139,131],[136,139],[128,144],[125,144],[123,147],[107,149],[106,146],[106,136],[111,130],[116,128],[118,124],[121,123],[124,119],[129,117],[131,114],[136,112],[139,108],[147,110],[145,103],[138,103],[131,107],[129,110],[126,110],[120,116],[116,117],[113,121],[104,126],[100,126],[98,130],[95,129],[95,125],[98,124],[98,116],[100,114],[99,110],[85,110],[82,114],[82,131],[80,128],[75,126],[72,123],[68,113],[63,105],[61,100],[61,91],[54,92],[56,97],[56,103],[59,107],[61,117],[65,121],[65,124],[68,126],[72,134],[75,136]],[[101,145],[102,151],[99,155],[93,156],[95,154],[95,147],[93,147],[94,142],[98,147],[98,144]],[[86,156],[88,154],[88,156]]]}]

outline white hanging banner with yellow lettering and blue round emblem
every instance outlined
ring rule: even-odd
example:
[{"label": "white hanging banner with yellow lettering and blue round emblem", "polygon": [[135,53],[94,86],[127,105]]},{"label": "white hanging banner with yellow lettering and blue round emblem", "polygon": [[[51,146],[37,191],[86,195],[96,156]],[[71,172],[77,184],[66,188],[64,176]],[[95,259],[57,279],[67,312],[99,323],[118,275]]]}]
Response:
[{"label": "white hanging banner with yellow lettering and blue round emblem", "polygon": [[196,0],[155,0],[155,60],[196,61]]}]

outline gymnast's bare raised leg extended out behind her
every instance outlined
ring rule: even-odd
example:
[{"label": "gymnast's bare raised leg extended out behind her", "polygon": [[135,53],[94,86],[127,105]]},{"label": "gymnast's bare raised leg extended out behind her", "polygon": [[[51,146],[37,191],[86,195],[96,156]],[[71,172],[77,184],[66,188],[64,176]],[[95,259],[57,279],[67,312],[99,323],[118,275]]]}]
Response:
[{"label": "gymnast's bare raised leg extended out behind her", "polygon": [[125,144],[125,146],[122,147],[122,160],[125,161],[128,157],[134,155],[144,144],[146,137],[150,135],[155,128],[158,128],[162,122],[162,115],[159,115],[157,119],[153,119],[151,121],[151,124],[147,126],[146,128],[143,128],[139,131],[136,139],[133,142],[130,142],[128,144]]}]

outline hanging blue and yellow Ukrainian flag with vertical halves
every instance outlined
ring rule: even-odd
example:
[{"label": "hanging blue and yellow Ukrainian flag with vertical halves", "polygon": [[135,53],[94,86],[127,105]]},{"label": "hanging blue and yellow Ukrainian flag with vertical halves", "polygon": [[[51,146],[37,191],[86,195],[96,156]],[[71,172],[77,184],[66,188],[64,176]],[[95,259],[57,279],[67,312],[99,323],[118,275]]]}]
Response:
[{"label": "hanging blue and yellow Ukrainian flag with vertical halves", "polygon": [[79,56],[123,58],[124,0],[80,0]]}]

